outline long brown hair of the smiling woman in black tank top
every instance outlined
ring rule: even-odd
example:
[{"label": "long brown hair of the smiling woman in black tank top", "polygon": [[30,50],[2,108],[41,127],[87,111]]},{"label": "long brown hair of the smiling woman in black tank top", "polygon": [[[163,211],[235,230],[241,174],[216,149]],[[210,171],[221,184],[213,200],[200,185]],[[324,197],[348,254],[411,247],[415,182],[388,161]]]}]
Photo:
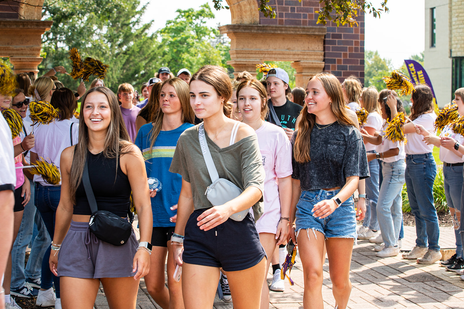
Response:
[{"label": "long brown hair of the smiling woman in black tank top", "polygon": [[[127,146],[133,145],[130,142],[129,133],[124,125],[122,119],[121,109],[117,101],[116,95],[108,88],[105,87],[94,87],[90,88],[82,97],[82,104],[80,114],[83,114],[85,99],[87,95],[92,92],[100,92],[106,96],[111,110],[111,121],[108,127],[108,133],[106,135],[102,154],[105,158],[113,159],[119,158],[122,154],[129,153],[130,151],[122,151]],[[87,159],[87,151],[89,145],[89,131],[84,120],[79,122],[79,141],[74,149],[74,157],[72,158],[72,165],[70,171],[70,195],[71,201],[76,200],[77,187],[81,183],[82,173],[84,171],[84,164]],[[116,170],[118,167],[118,160],[116,160]]]}]

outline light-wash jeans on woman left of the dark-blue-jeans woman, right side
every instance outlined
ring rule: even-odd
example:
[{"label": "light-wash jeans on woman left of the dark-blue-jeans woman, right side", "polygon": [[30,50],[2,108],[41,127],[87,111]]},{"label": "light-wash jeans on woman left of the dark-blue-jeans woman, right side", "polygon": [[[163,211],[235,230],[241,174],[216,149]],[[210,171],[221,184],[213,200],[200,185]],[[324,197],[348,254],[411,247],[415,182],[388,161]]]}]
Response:
[{"label": "light-wash jeans on woman left of the dark-blue-jeans woman, right side", "polygon": [[398,245],[400,237],[403,219],[401,189],[405,183],[405,169],[404,160],[382,162],[383,181],[377,202],[377,218],[386,247]]}]

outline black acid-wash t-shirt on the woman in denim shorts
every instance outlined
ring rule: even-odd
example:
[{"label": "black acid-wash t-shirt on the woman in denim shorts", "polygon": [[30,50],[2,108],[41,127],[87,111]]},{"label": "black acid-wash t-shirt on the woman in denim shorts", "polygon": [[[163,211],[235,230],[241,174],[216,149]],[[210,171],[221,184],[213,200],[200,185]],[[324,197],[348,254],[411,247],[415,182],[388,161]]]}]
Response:
[{"label": "black acid-wash t-shirt on the woman in denim shorts", "polygon": [[[292,146],[296,133],[290,140]],[[309,156],[311,160],[305,163],[297,163],[292,156],[292,178],[300,180],[303,191],[342,188],[346,177],[369,177],[366,148],[361,133],[354,126],[343,126],[338,122],[322,129],[314,126]]]}]

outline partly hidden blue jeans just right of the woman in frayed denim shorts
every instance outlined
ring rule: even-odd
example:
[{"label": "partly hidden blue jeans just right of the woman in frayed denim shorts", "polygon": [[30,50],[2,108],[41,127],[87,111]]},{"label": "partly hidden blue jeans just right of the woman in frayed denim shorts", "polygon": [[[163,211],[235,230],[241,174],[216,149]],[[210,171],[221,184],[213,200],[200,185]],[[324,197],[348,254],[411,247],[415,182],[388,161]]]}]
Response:
[{"label": "partly hidden blue jeans just right of the woman in frayed denim shorts", "polygon": [[[367,151],[375,153],[375,151]],[[379,229],[377,220],[377,200],[379,198],[379,162],[378,160],[369,161],[369,173],[371,177],[366,179],[366,216],[362,222],[363,227],[369,227],[371,230]]]}]

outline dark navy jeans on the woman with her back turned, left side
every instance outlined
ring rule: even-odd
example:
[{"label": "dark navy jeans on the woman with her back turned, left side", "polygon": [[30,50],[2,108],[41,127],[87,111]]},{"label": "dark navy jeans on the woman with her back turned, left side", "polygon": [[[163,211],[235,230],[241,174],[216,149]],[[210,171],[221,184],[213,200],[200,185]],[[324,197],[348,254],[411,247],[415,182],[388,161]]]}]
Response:
[{"label": "dark navy jeans on the woman with her back turned, left side", "polygon": [[[55,214],[58,208],[60,194],[61,186],[43,186],[40,183],[35,184],[35,206],[37,210],[39,210],[52,240],[55,230]],[[42,260],[42,284],[40,288],[48,290],[54,283],[56,296],[59,298],[59,277],[53,275],[48,264],[51,248],[52,245],[50,244]]]}]

